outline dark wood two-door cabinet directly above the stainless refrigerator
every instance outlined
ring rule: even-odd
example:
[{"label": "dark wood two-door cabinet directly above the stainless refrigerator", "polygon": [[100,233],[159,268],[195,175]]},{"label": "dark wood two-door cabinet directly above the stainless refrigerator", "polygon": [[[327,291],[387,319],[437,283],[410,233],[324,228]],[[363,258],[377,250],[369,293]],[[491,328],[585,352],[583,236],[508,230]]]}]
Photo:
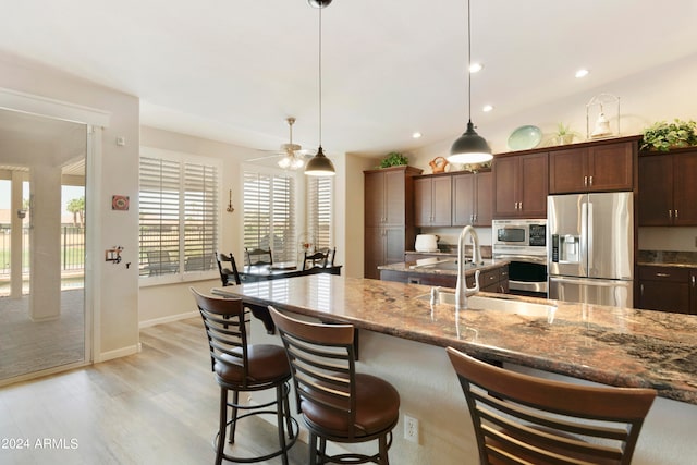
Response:
[{"label": "dark wood two-door cabinet directly above the stainless refrigerator", "polygon": [[637,143],[613,142],[549,154],[549,193],[632,191]]}]

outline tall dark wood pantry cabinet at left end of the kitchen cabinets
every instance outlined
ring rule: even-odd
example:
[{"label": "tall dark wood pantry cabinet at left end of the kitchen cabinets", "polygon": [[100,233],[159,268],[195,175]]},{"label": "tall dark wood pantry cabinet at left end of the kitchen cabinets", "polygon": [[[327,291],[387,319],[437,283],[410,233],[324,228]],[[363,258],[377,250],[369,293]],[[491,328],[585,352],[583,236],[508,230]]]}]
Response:
[{"label": "tall dark wood pantry cabinet at left end of the kitchen cabinets", "polygon": [[414,244],[414,180],[421,170],[393,167],[364,172],[364,276],[379,279],[378,266],[403,261]]}]

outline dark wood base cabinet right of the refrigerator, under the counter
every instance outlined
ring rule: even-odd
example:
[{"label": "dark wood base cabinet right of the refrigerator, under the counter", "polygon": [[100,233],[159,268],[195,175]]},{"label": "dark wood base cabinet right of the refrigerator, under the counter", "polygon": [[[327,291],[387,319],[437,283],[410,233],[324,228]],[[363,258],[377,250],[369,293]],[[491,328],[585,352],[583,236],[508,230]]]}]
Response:
[{"label": "dark wood base cabinet right of the refrigerator, under the counter", "polygon": [[689,268],[640,266],[638,308],[694,314],[694,272]]}]

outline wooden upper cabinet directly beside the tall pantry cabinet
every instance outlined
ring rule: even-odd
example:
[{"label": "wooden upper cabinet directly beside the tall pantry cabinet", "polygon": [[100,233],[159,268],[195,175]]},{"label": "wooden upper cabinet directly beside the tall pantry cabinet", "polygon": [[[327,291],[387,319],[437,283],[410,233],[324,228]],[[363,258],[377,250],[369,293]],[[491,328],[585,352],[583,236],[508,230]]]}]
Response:
[{"label": "wooden upper cabinet directly beside the tall pantry cabinet", "polygon": [[451,224],[452,183],[450,174],[414,180],[414,218],[417,227]]}]

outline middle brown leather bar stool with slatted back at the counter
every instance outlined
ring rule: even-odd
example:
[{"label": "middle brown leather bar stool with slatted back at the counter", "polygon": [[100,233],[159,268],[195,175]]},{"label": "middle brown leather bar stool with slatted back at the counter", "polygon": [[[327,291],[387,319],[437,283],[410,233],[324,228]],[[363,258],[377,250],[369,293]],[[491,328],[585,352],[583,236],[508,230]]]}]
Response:
[{"label": "middle brown leather bar stool with slatted back at the counter", "polygon": [[[310,465],[388,464],[400,394],[389,382],[357,374],[354,327],[321,325],[288,317],[269,306],[291,363],[298,413],[309,430]],[[327,441],[356,443],[377,439],[375,455],[328,456]],[[319,446],[317,441],[319,440]]]}]

